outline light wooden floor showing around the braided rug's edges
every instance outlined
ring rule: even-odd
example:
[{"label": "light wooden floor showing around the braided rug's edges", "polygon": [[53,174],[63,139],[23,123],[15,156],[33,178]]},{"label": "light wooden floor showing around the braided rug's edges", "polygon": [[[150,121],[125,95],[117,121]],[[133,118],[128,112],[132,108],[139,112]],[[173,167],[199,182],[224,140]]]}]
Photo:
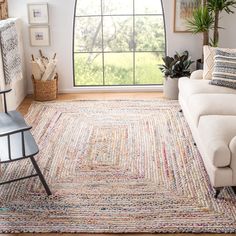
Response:
[{"label": "light wooden floor showing around the braided rug's edges", "polygon": [[[157,99],[163,98],[162,93],[149,92],[149,93],[91,93],[91,94],[60,94],[57,100],[119,100],[119,99]],[[26,114],[30,105],[33,102],[32,96],[27,96],[19,107],[22,114]],[[1,220],[1,219],[0,219]],[[0,236],[13,236],[14,234],[0,234]],[[71,236],[71,234],[18,234],[20,236]],[[78,236],[114,236],[114,234],[75,234]],[[115,234],[115,236],[123,236],[124,234]],[[152,234],[129,234],[130,236],[151,236]],[[159,234],[160,236],[170,236],[172,234]],[[173,234],[176,236],[192,236],[194,234]],[[217,234],[198,234],[199,236],[212,236]],[[230,236],[232,234],[224,234]]]}]

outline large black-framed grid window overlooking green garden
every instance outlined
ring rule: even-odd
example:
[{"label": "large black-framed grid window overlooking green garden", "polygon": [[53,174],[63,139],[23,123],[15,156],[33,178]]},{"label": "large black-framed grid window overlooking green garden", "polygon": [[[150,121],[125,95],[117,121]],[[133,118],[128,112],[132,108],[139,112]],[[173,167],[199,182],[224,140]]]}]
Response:
[{"label": "large black-framed grid window overlooking green garden", "polygon": [[162,84],[161,0],[77,0],[75,86]]}]

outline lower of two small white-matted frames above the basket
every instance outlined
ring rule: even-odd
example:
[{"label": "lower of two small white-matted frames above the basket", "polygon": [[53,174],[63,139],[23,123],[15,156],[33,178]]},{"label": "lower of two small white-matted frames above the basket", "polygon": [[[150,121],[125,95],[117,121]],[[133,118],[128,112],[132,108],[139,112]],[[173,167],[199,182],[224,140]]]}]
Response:
[{"label": "lower of two small white-matted frames above the basket", "polygon": [[50,46],[49,26],[31,26],[29,27],[30,45],[32,47]]}]

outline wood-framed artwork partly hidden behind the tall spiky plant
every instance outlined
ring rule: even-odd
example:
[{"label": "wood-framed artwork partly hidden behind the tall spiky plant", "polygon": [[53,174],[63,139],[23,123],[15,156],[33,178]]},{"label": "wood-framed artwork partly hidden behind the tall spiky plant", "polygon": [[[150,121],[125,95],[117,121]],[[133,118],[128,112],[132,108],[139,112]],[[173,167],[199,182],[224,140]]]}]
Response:
[{"label": "wood-framed artwork partly hidden behind the tall spiky plant", "polygon": [[187,20],[193,16],[193,11],[201,5],[201,0],[174,0],[174,32],[191,33]]}]

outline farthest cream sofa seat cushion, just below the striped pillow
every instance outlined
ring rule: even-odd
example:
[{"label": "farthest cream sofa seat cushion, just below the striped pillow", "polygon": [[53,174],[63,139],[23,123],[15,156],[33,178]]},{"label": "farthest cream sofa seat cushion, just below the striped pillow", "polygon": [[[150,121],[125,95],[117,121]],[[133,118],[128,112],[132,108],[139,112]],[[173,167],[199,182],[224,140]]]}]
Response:
[{"label": "farthest cream sofa seat cushion, just below the striped pillow", "polygon": [[209,80],[192,80],[187,77],[179,79],[179,91],[185,102],[191,95],[199,93],[236,94],[235,89],[211,85],[209,84]]}]

